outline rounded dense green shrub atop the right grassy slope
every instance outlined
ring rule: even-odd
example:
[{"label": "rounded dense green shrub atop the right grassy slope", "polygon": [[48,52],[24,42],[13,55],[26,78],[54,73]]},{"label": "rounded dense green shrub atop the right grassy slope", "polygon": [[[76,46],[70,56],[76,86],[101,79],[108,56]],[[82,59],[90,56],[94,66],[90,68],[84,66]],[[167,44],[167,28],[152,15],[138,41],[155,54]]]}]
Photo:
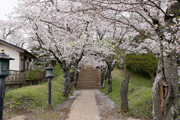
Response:
[{"label": "rounded dense green shrub atop the right grassy slope", "polygon": [[126,56],[126,67],[133,72],[154,76],[157,70],[158,59],[151,53],[130,54]]}]

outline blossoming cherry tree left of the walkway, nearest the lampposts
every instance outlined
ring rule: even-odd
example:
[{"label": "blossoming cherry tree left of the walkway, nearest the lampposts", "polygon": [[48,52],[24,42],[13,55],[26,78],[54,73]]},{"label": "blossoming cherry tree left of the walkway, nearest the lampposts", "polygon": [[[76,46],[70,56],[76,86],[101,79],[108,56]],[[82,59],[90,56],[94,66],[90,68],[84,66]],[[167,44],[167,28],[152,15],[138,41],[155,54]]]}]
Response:
[{"label": "blossoming cherry tree left of the walkway, nearest the lampposts", "polygon": [[52,54],[66,73],[66,97],[72,88],[70,69],[74,68],[77,77],[78,63],[90,36],[90,18],[74,13],[75,8],[78,4],[70,1],[23,0],[16,11],[18,18],[30,29],[29,36],[34,44]]}]

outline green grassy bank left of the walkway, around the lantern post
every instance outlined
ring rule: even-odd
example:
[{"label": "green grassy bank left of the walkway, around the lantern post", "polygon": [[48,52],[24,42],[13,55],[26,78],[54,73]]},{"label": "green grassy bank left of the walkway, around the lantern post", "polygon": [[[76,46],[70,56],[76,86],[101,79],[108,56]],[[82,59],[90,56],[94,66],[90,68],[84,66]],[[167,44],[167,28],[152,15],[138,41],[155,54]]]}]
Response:
[{"label": "green grassy bank left of the walkway, around the lantern post", "polygon": [[[54,108],[56,104],[63,103],[66,98],[63,96],[64,78],[62,77],[62,69],[55,66],[55,77],[52,80],[51,104]],[[19,108],[30,111],[43,111],[48,109],[48,82],[22,87],[6,92],[5,107]]]}]

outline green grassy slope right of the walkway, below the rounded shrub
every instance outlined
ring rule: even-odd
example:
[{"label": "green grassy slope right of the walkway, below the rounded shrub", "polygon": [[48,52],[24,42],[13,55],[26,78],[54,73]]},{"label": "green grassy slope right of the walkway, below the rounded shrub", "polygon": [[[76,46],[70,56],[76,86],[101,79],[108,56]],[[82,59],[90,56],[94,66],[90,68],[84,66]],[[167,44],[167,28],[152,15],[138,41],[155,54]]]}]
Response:
[{"label": "green grassy slope right of the walkway, below the rounded shrub", "polygon": [[[102,92],[109,95],[110,98],[120,107],[120,89],[121,81],[124,79],[123,71],[115,69],[112,72],[112,92],[108,94],[107,87],[101,89]],[[107,86],[107,84],[106,84]],[[131,73],[129,91],[128,91],[129,111],[127,116],[139,118],[152,117],[152,83],[150,78]]]}]

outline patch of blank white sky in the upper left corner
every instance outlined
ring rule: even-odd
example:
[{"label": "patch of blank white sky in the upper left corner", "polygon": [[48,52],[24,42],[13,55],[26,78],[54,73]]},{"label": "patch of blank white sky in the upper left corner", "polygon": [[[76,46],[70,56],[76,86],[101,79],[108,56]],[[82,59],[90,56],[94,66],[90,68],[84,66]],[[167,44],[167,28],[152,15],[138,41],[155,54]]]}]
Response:
[{"label": "patch of blank white sky in the upper left corner", "polygon": [[0,0],[0,19],[6,20],[6,15],[13,12],[18,0]]}]

